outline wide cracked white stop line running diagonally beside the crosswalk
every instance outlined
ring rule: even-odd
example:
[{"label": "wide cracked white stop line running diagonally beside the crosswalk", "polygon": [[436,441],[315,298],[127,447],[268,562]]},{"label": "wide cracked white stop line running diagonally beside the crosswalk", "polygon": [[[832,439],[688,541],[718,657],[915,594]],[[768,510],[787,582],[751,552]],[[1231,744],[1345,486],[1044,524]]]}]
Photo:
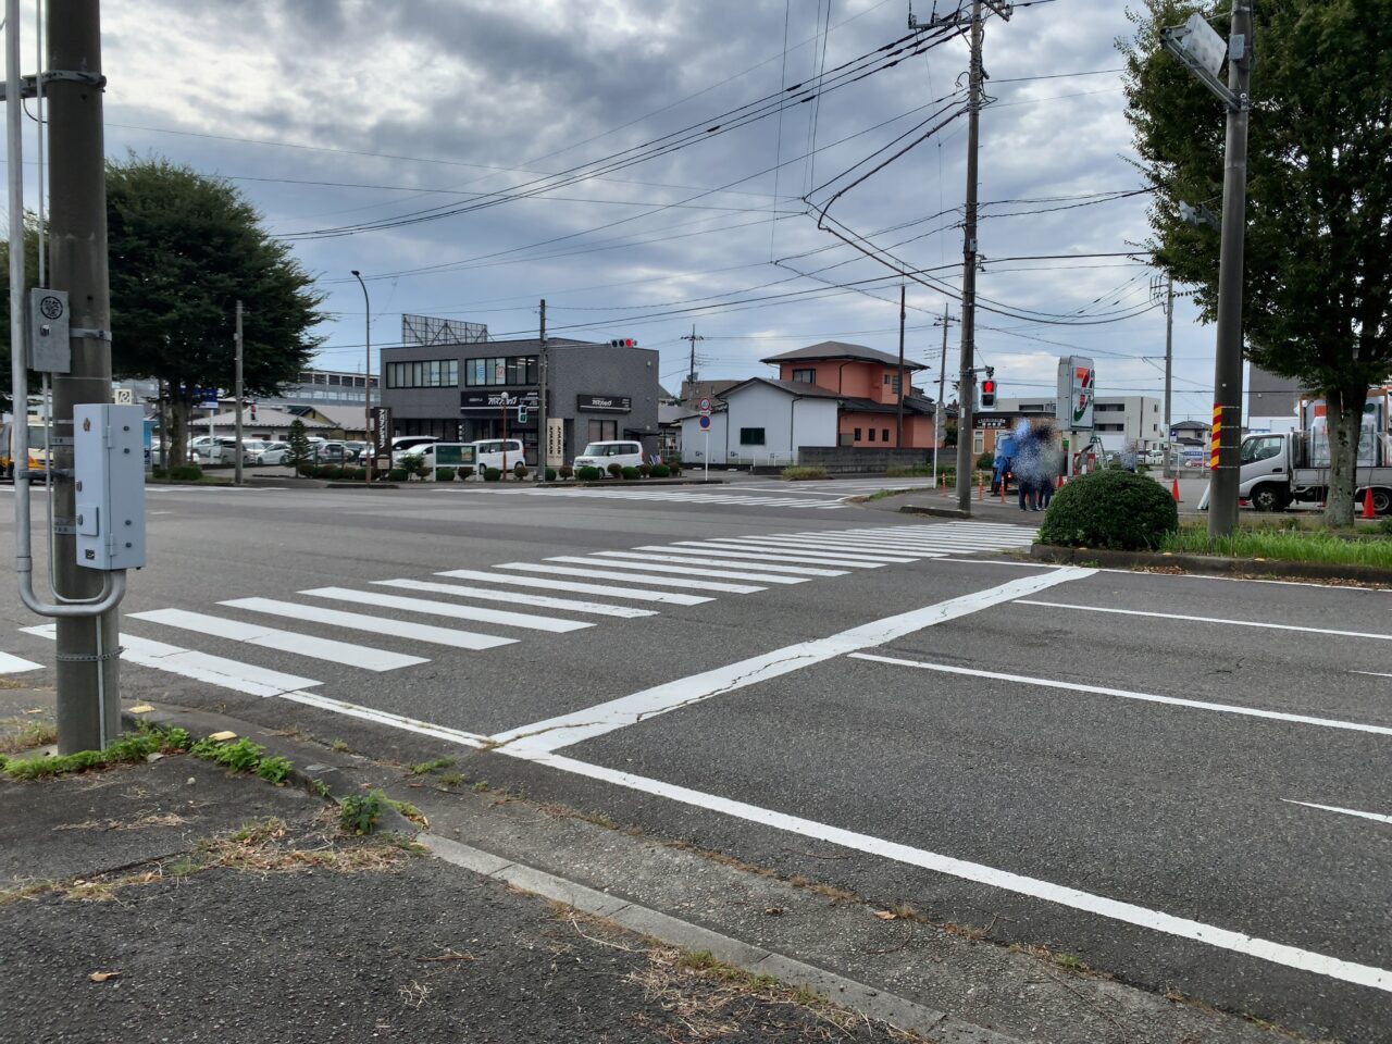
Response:
[{"label": "wide cracked white stop line running diagonally beside the crosswalk", "polygon": [[507,732],[500,732],[493,739],[505,745],[523,746],[529,750],[558,750],[560,748],[593,739],[626,725],[635,725],[657,714],[665,714],[670,710],[707,700],[711,696],[721,696],[749,685],[766,682],[771,678],[845,656],[846,653],[881,646],[885,642],[912,635],[935,624],[1012,601],[1022,594],[1047,590],[1055,585],[1079,580],[1091,575],[1093,569],[1061,569],[1025,576],[998,587],[988,587],[958,599],[941,601],[935,606],[924,606],[923,608],[885,617],[871,624],[863,624],[862,626],[842,631],[839,635],[800,642],[786,649],[741,660],[736,664],[717,667],[713,671],[704,671],[689,678],[679,678],[674,682],[643,689],[642,692],[635,692],[631,696],[622,696],[596,707],[586,707],[572,714],[562,714],[546,721],[508,729]]}]

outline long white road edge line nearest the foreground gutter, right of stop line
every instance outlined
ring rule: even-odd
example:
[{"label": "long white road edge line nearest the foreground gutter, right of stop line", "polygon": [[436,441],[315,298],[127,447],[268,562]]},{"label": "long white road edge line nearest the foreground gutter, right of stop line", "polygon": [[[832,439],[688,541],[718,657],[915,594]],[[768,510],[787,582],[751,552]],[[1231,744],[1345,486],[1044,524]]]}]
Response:
[{"label": "long white road edge line nearest the foreground gutter, right of stop line", "polygon": [[633,775],[632,773],[622,773],[604,766],[576,761],[572,757],[555,754],[548,750],[539,750],[535,746],[509,746],[504,748],[503,752],[535,764],[557,768],[562,773],[572,773],[575,775],[583,775],[600,782],[624,786],[640,793],[650,793],[689,807],[704,809],[722,816],[729,816],[731,818],[745,820],[746,823],[753,823],[756,825],[781,830],[798,837],[814,838],[852,852],[864,852],[881,859],[889,859],[895,863],[916,866],[923,870],[945,874],[948,877],[956,877],[963,881],[973,881],[990,888],[999,888],[1002,891],[1013,892],[1015,895],[1025,895],[1031,899],[1041,899],[1057,906],[1082,910],[1083,913],[1107,917],[1109,920],[1121,922],[1122,924],[1132,924],[1148,931],[1175,935],[1178,938],[1200,942],[1205,947],[1242,954],[1244,956],[1257,958],[1258,960],[1281,965],[1283,967],[1293,967],[1296,970],[1310,972],[1327,979],[1336,979],[1343,983],[1392,992],[1392,970],[1384,967],[1359,965],[1352,960],[1329,956],[1327,954],[1300,949],[1299,947],[1290,947],[1283,942],[1249,935],[1244,931],[1221,928],[1215,924],[1204,924],[1203,922],[1192,920],[1189,917],[1176,917],[1175,915],[1165,913],[1162,910],[1153,910],[1136,903],[1111,899],[1105,895],[1084,892],[1065,884],[1054,884],[1052,881],[1044,881],[1037,877],[1026,877],[1009,870],[984,866],[983,863],[972,863],[965,859],[956,859],[938,852],[928,852],[922,848],[901,845],[895,841],[885,841],[883,838],[859,834],[852,830],[832,827],[825,823],[805,820],[799,816],[788,816],[773,809],[760,809],[756,805],[746,805],[745,802],[731,800],[714,793],[703,793],[702,791],[693,791],[688,786],[678,786],[675,784]]}]

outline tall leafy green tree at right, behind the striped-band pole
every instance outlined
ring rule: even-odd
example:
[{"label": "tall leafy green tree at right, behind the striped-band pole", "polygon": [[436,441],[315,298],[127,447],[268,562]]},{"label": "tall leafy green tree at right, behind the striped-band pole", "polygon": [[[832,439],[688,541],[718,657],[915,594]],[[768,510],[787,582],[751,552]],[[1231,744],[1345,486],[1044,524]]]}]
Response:
[{"label": "tall leafy green tree at right, behind the striped-band pole", "polygon": [[[1224,4],[1226,8],[1226,4]],[[1193,0],[1129,11],[1126,118],[1155,188],[1157,263],[1217,316],[1218,231],[1180,200],[1222,196],[1224,111],[1160,47],[1193,11],[1228,36],[1229,14]],[[1352,525],[1370,384],[1392,376],[1392,0],[1260,0],[1251,72],[1243,327],[1246,355],[1328,404],[1329,525]]]}]

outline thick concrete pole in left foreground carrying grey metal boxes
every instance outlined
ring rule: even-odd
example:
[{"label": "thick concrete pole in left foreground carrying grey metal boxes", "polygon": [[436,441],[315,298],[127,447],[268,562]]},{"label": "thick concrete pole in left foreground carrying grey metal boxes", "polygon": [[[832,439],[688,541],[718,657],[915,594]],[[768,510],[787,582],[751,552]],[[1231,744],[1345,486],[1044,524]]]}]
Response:
[{"label": "thick concrete pole in left foreground carrying grey metal boxes", "polygon": [[[71,601],[99,594],[103,580],[96,569],[77,564],[71,479],[72,406],[111,401],[100,3],[50,4],[47,18],[47,68],[84,74],[54,78],[46,90],[52,285],[68,291],[72,309],[72,370],[53,381],[57,437],[49,496],[58,522],[53,536],[57,594]],[[58,617],[56,622],[58,750],[100,748],[121,731],[117,612],[113,608],[96,618]]]}]

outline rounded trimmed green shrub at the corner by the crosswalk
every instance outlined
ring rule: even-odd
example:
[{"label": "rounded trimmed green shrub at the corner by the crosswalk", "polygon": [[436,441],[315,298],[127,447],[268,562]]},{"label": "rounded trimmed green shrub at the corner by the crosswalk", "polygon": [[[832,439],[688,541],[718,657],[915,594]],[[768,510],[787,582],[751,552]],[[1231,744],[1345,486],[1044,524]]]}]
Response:
[{"label": "rounded trimmed green shrub at the corner by the crosswalk", "polygon": [[1040,543],[1141,551],[1179,529],[1179,509],[1154,479],[1107,469],[1070,479],[1054,494]]}]

